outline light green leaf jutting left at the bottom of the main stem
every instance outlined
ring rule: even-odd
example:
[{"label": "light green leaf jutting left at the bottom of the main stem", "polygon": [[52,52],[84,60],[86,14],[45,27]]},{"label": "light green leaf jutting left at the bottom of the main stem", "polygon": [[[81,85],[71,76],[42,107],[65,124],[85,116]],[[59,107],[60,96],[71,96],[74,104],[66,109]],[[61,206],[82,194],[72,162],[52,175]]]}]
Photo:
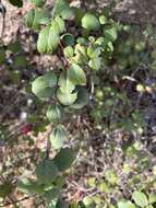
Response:
[{"label": "light green leaf jutting left at the bottom of the main stem", "polygon": [[17,183],[17,189],[25,194],[43,194],[44,185],[36,181],[24,178]]}]

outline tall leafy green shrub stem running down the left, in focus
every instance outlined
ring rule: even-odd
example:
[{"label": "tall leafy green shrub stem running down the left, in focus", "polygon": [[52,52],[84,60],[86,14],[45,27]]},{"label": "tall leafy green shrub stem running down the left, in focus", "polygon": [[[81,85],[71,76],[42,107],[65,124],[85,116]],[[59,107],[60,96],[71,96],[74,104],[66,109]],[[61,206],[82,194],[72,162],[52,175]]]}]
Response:
[{"label": "tall leafy green shrub stem running down the left, in focus", "polygon": [[[39,194],[49,208],[64,208],[69,205],[60,198],[63,184],[60,186],[57,183],[73,163],[75,152],[64,147],[68,134],[63,123],[70,117],[70,112],[80,111],[88,104],[89,74],[100,70],[103,56],[111,55],[118,26],[105,14],[85,13],[70,7],[68,0],[57,0],[52,11],[43,8],[45,0],[31,2],[34,9],[25,15],[25,24],[38,32],[38,51],[57,55],[62,61],[61,70],[48,71],[32,83],[33,93],[47,102],[46,116],[53,125],[49,140],[58,153],[53,159],[48,155],[40,161],[35,171],[36,180],[24,178],[19,188],[24,193]],[[72,34],[68,27],[71,21],[79,26],[79,34]],[[52,104],[48,106],[49,101]]]}]

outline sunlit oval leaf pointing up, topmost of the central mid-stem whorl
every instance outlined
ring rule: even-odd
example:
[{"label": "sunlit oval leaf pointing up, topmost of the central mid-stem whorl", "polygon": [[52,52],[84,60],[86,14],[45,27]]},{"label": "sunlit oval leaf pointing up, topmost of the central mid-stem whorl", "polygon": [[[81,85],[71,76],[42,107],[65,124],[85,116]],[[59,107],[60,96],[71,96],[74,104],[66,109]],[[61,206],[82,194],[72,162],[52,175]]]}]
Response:
[{"label": "sunlit oval leaf pointing up, topmost of the central mid-stem whorl", "polygon": [[68,77],[71,82],[75,85],[85,85],[86,84],[86,77],[83,69],[76,65],[72,63],[70,69],[68,70]]}]

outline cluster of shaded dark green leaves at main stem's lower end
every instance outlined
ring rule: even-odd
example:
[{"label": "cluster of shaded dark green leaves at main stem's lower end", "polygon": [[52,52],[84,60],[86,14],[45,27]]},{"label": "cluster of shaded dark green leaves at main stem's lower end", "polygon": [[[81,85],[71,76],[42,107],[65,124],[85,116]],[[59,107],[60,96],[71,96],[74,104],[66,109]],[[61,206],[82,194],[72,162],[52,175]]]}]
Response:
[{"label": "cluster of shaded dark green leaves at main stem's lower end", "polygon": [[58,198],[61,180],[59,174],[71,166],[74,158],[72,149],[61,149],[53,160],[48,159],[38,163],[35,171],[36,181],[23,178],[17,184],[19,189],[26,194],[39,194],[48,201]]}]

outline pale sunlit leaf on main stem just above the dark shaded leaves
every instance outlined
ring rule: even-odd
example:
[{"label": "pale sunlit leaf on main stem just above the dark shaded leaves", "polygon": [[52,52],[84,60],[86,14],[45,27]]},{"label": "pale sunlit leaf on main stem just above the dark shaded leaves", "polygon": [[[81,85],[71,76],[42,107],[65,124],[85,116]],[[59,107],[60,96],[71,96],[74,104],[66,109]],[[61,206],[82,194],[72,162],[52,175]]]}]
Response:
[{"label": "pale sunlit leaf on main stem just above the dark shaded leaves", "polygon": [[51,146],[55,149],[60,149],[63,147],[64,141],[68,139],[65,129],[62,126],[58,126],[52,130],[50,135]]}]

